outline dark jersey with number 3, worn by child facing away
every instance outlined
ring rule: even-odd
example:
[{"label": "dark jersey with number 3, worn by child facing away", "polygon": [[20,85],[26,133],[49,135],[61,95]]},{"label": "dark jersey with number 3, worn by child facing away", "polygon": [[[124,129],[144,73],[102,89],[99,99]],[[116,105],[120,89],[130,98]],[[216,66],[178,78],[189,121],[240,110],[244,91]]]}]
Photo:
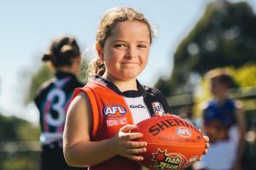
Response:
[{"label": "dark jersey with number 3, worn by child facing away", "polygon": [[55,77],[39,89],[35,103],[40,112],[42,144],[61,141],[67,108],[74,88],[79,87],[83,84],[73,74],[57,71]]}]

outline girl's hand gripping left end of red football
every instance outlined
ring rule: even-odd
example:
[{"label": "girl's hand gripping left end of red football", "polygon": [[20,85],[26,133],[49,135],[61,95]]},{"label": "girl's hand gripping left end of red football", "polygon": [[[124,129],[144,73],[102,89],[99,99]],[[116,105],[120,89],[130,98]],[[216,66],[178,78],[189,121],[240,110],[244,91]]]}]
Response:
[{"label": "girl's hand gripping left end of red football", "polygon": [[143,137],[143,133],[130,133],[132,129],[135,129],[137,125],[127,124],[119,129],[113,137],[113,149],[120,156],[124,156],[133,161],[143,161],[143,156],[137,156],[137,154],[146,152],[146,142],[132,141],[133,139],[139,139]]}]

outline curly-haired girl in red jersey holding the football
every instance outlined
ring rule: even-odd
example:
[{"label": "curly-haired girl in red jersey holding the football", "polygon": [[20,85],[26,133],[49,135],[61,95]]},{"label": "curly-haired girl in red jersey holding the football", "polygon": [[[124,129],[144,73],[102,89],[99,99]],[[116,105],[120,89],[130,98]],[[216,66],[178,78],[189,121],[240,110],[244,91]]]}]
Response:
[{"label": "curly-haired girl in red jersey holding the football", "polygon": [[[146,142],[131,133],[151,116],[169,113],[159,90],[137,81],[148,61],[152,30],[133,8],[113,8],[96,34],[98,58],[91,82],[74,93],[64,130],[68,164],[93,170],[139,170]],[[91,75],[91,74],[90,74]]]}]

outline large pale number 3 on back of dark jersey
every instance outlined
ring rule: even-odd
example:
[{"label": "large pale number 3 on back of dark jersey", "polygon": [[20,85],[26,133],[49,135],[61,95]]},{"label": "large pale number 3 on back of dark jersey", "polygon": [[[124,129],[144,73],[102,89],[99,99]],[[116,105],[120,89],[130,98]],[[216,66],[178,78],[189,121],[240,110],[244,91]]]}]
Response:
[{"label": "large pale number 3 on back of dark jersey", "polygon": [[[56,100],[57,102],[53,102]],[[47,111],[45,120],[51,126],[61,126],[65,121],[65,111],[63,105],[65,105],[66,94],[59,88],[54,88],[47,95],[47,103],[50,103],[50,109]],[[53,116],[51,112],[55,112],[57,116]]]}]

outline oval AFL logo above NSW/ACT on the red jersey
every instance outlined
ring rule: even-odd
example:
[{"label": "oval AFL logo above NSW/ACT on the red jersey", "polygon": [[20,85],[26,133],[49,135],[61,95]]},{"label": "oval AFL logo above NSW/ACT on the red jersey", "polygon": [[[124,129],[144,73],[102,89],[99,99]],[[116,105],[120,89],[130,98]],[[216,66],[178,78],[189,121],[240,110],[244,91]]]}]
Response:
[{"label": "oval AFL logo above NSW/ACT on the red jersey", "polygon": [[112,118],[117,118],[119,116],[124,116],[126,114],[126,109],[123,105],[109,104],[105,105],[102,109],[102,115]]}]

